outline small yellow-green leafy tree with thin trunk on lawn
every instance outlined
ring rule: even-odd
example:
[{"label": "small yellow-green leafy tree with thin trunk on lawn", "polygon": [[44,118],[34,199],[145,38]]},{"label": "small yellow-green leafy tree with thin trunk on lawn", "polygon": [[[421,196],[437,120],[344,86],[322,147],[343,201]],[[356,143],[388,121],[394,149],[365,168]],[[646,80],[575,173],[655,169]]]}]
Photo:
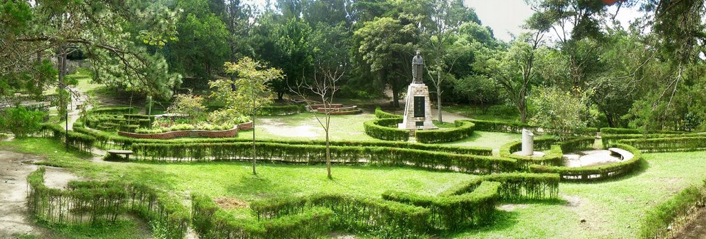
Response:
[{"label": "small yellow-green leafy tree with thin trunk on lawn", "polygon": [[250,115],[253,121],[253,174],[257,174],[255,147],[255,116],[263,106],[271,104],[273,93],[267,83],[282,78],[282,71],[266,68],[263,64],[244,57],[237,63],[226,62],[225,72],[234,74],[234,79],[219,79],[208,82],[212,97],[225,102],[223,109],[213,112],[212,118],[220,120],[241,118]]}]

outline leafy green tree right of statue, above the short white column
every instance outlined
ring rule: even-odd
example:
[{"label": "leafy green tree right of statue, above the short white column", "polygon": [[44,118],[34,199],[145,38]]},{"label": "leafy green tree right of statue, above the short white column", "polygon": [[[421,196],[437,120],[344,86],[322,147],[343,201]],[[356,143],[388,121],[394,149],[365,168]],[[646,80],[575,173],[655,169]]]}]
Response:
[{"label": "leafy green tree right of statue, above the short white column", "polygon": [[484,53],[484,63],[479,63],[498,85],[501,85],[510,101],[520,111],[520,121],[527,122],[527,97],[533,85],[537,85],[534,68],[537,49],[542,45],[542,33],[523,34],[515,39],[507,51]]}]

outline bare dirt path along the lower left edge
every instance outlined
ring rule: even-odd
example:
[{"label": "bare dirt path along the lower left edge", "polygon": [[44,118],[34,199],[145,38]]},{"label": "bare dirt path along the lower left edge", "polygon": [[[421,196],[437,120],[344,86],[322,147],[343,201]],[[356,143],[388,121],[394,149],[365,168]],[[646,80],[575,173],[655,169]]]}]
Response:
[{"label": "bare dirt path along the lower left edge", "polygon": [[27,176],[37,166],[22,163],[36,159],[29,154],[0,151],[0,238],[40,233],[27,212]]}]

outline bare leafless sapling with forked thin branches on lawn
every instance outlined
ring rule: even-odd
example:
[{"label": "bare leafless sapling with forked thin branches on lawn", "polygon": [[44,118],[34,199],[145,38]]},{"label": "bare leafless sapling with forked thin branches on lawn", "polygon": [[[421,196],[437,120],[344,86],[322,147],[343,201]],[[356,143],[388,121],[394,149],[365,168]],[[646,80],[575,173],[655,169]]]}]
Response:
[{"label": "bare leafless sapling with forked thin branches on lawn", "polygon": [[333,104],[333,97],[338,91],[336,83],[341,79],[344,72],[342,66],[336,68],[326,68],[322,66],[318,71],[314,71],[311,82],[302,79],[297,82],[296,88],[292,89],[292,87],[289,87],[294,94],[304,98],[304,102],[309,106],[309,109],[311,109],[311,102],[309,102],[310,95],[316,97],[316,100],[321,100],[321,104],[323,104],[323,108],[325,109],[323,116],[319,116],[316,111],[312,111],[312,114],[326,134],[326,171],[328,178],[333,178],[331,177],[331,150],[328,137],[331,129],[331,112],[333,112],[331,104]]}]

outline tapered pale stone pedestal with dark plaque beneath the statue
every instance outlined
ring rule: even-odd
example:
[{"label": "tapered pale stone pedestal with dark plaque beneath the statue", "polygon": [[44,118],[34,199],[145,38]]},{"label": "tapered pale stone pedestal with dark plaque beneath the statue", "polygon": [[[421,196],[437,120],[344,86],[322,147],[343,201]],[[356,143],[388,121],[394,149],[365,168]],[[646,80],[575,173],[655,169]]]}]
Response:
[{"label": "tapered pale stone pedestal with dark plaque beneath the statue", "polygon": [[407,104],[405,118],[397,128],[408,130],[433,130],[436,125],[431,122],[431,102],[429,102],[429,87],[424,83],[414,83],[407,89]]}]

